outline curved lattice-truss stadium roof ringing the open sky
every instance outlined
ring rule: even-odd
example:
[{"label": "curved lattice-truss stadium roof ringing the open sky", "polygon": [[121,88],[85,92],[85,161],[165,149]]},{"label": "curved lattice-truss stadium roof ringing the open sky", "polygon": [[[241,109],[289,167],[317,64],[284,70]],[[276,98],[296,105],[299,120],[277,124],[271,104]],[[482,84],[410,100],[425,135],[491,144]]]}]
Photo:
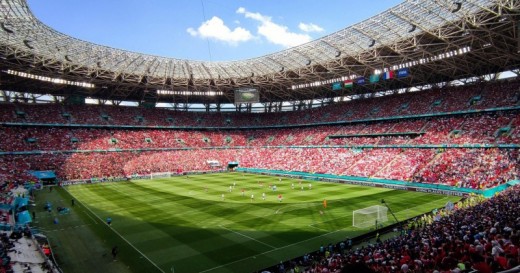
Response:
[{"label": "curved lattice-truss stadium roof ringing the open sky", "polygon": [[[204,62],[82,41],[40,22],[25,0],[2,0],[0,89],[232,103],[240,87],[258,89],[261,102],[280,102],[446,82],[518,69],[519,9],[518,0],[408,0],[301,46],[246,60]],[[403,67],[409,67],[409,77],[368,82],[372,74]],[[34,76],[50,82],[28,79]],[[334,81],[361,76],[366,84],[331,90]],[[69,84],[56,84],[60,81]]]}]

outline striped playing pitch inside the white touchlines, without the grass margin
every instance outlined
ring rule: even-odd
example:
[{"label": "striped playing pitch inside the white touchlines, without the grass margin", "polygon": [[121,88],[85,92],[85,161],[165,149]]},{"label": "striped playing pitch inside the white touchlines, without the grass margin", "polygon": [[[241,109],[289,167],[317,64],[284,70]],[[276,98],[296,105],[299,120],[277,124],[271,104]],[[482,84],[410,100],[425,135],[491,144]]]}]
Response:
[{"label": "striped playing pitch inside the white touchlines, without the grass margin", "polygon": [[[236,187],[229,193],[233,182]],[[226,264],[230,268],[245,266],[245,271],[259,270],[259,264],[272,264],[274,256],[278,261],[294,257],[315,250],[319,242],[363,232],[350,227],[354,209],[385,199],[397,215],[409,215],[428,211],[421,204],[430,202],[432,206],[439,199],[421,193],[305,180],[302,191],[299,182],[231,173],[72,186],[69,190],[101,218],[114,218],[114,229],[163,270],[175,266],[179,272],[213,267],[215,272],[229,272],[220,271]],[[278,190],[271,191],[269,184],[277,185]],[[246,189],[245,196],[241,196],[242,188]],[[265,201],[261,200],[262,192],[267,195]],[[251,193],[255,194],[253,202]],[[281,203],[276,198],[279,193],[284,197]],[[326,209],[323,199],[328,201]],[[258,261],[251,262],[252,256]]]}]

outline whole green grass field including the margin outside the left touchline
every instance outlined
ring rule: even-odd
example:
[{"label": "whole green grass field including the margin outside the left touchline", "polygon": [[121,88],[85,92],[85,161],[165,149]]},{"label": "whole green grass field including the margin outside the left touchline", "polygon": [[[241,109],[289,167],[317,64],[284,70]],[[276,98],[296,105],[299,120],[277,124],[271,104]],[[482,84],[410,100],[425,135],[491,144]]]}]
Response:
[{"label": "whole green grass field including the margin outside the left touchline", "polygon": [[[67,186],[38,193],[36,208],[49,200],[54,207],[71,207],[74,198],[71,213],[38,212],[36,226],[67,273],[254,272],[367,232],[352,227],[352,211],[381,199],[399,220],[458,199],[305,180],[302,190],[299,183],[221,173]],[[59,224],[52,223],[55,217]],[[113,219],[110,227],[107,217]],[[113,245],[120,249],[116,262]]]}]

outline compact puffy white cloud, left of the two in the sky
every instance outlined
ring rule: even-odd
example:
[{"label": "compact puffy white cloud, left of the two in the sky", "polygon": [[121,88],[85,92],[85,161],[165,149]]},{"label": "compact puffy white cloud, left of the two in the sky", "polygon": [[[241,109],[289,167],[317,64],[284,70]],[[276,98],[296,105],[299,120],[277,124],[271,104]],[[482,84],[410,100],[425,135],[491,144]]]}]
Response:
[{"label": "compact puffy white cloud, left of the two in the sky", "polygon": [[213,18],[203,22],[197,29],[190,27],[186,29],[186,31],[194,37],[215,39],[231,45],[253,39],[253,35],[249,30],[242,27],[236,27],[231,30],[224,24],[224,21],[217,16],[213,16]]}]

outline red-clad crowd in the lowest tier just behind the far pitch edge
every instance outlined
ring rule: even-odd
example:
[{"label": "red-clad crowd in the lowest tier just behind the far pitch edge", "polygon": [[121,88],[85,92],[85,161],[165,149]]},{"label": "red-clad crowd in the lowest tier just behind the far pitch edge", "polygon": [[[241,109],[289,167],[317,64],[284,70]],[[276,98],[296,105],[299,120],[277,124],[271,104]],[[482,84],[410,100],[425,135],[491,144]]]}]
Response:
[{"label": "red-clad crowd in the lowest tier just behind the far pitch edge", "polygon": [[[209,164],[218,161],[219,166]],[[54,170],[63,180],[240,167],[436,183],[484,189],[518,179],[515,149],[243,148],[42,153],[0,156],[0,179],[34,180],[26,170]]]}]

